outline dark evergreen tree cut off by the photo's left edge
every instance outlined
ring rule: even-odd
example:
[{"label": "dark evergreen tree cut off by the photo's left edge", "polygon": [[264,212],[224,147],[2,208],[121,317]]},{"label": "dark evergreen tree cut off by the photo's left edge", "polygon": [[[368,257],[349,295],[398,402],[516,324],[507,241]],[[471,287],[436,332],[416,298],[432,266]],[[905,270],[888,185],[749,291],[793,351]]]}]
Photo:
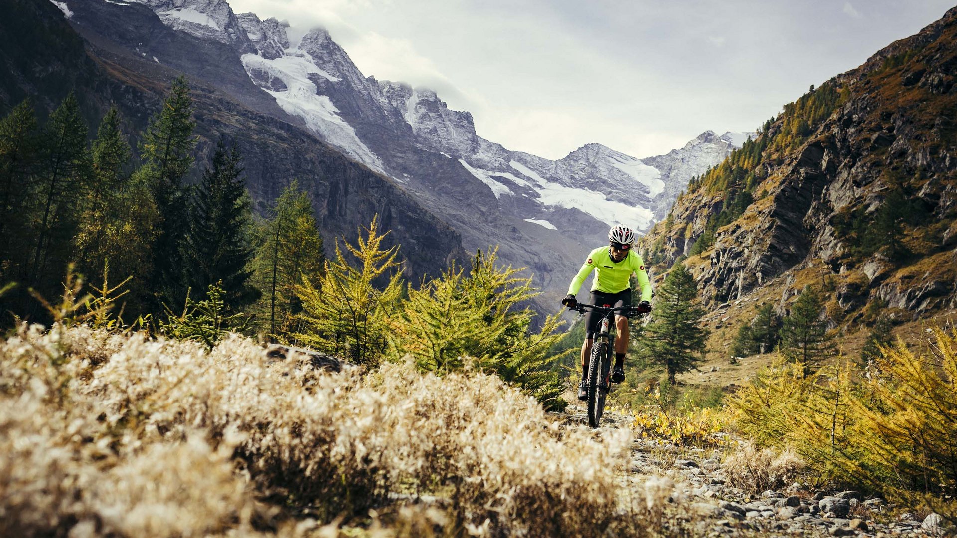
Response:
[{"label": "dark evergreen tree cut off by the photo's left edge", "polygon": [[0,283],[22,275],[27,263],[38,144],[33,106],[23,101],[0,120]]}]

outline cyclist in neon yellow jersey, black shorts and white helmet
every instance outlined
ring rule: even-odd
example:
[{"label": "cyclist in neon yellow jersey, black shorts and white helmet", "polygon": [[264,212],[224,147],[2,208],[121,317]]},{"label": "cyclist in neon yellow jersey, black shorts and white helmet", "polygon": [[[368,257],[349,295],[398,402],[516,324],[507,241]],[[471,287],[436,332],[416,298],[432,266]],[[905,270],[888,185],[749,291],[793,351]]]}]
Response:
[{"label": "cyclist in neon yellow jersey, black shorts and white helmet", "polygon": [[[641,288],[641,303],[638,303],[638,312],[652,311],[652,284],[645,271],[645,262],[632,250],[635,235],[632,230],[618,224],[612,226],[608,233],[609,246],[598,247],[589,253],[589,258],[578,270],[578,274],[568,286],[568,295],[562,300],[569,308],[578,304],[575,294],[582,287],[582,283],[593,270],[595,278],[591,284],[592,304],[611,304],[612,307],[632,304],[632,290],[629,279],[634,276],[638,279]],[[578,399],[587,400],[588,392],[585,389],[585,380],[588,379],[589,355],[594,333],[601,322],[601,315],[589,312],[585,318],[585,342],[582,343],[582,381],[578,384]],[[615,314],[614,325],[617,328],[618,338],[614,341],[614,370],[612,381],[621,383],[625,380],[625,352],[628,350],[628,317]]]}]

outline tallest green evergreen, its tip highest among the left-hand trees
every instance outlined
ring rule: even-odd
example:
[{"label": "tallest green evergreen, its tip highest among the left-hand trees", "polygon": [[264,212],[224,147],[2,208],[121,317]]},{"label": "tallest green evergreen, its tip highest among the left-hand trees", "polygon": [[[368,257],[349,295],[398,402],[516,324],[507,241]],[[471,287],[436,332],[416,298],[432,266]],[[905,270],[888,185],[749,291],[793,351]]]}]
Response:
[{"label": "tallest green evergreen, its tip highest among the left-hand trees", "polygon": [[181,252],[189,232],[189,196],[183,182],[193,163],[194,127],[189,83],[184,77],[176,78],[163,109],[146,128],[140,145],[144,166],[137,171],[160,216],[149,278],[157,313],[162,311],[159,303],[182,304],[186,300]]}]

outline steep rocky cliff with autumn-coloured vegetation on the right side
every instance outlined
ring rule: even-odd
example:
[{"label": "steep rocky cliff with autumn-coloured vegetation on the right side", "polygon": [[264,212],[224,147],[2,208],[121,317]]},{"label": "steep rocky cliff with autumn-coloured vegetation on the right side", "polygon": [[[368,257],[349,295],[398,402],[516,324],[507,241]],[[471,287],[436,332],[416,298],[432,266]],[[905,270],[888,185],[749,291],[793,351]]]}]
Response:
[{"label": "steep rocky cliff with autumn-coloured vegetation on the right side", "polygon": [[[782,297],[833,289],[836,320],[875,302],[903,316],[954,308],[955,66],[957,9],[786,105],[643,247],[673,262],[710,242],[686,260],[709,303],[783,277]],[[728,209],[741,200],[742,213]]]}]

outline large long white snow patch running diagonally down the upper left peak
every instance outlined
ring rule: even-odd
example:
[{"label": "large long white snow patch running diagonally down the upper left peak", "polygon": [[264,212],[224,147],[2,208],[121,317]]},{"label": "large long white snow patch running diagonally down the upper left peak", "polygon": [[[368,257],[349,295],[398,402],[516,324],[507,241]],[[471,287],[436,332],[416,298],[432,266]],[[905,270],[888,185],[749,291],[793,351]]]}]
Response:
[{"label": "large long white snow patch running diagonally down the upper left peak", "polygon": [[316,67],[311,56],[300,51],[287,51],[286,56],[276,59],[245,54],[240,60],[246,73],[258,70],[282,80],[286,85],[285,90],[264,90],[276,98],[279,107],[287,114],[299,116],[311,131],[329,144],[342,148],[369,168],[383,171],[382,161],[359,140],[352,125],[339,116],[339,109],[332,100],[328,96],[316,94],[316,85],[308,77],[310,74],[318,74],[332,81],[338,81],[339,78]]}]

